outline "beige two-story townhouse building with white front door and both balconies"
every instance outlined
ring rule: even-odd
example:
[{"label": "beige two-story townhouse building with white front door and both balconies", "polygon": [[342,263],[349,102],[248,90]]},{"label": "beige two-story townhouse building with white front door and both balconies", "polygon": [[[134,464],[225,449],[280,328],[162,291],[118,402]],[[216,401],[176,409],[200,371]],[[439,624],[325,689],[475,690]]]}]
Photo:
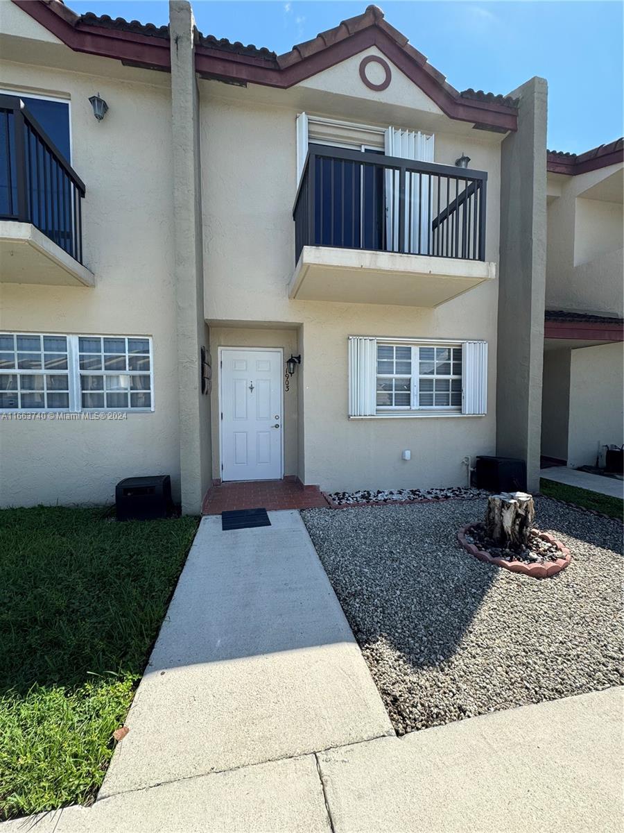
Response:
[{"label": "beige two-story townhouse building with white front door and both balconies", "polygon": [[546,82],[458,92],[374,6],[279,56],[0,12],[3,504],[537,487]]}]

